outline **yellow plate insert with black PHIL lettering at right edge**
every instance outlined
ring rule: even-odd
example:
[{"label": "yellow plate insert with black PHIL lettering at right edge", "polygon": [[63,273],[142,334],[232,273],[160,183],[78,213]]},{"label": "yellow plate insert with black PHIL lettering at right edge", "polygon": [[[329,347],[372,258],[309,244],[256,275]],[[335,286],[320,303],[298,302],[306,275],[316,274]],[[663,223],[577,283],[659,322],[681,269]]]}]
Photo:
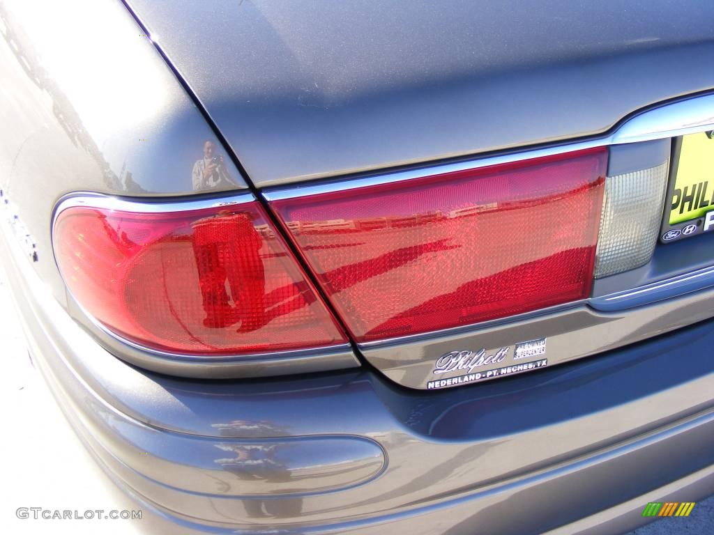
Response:
[{"label": "yellow plate insert with black PHIL lettering at right edge", "polygon": [[[714,210],[714,139],[711,133],[695,133],[682,138],[675,184],[670,195],[669,224],[676,225],[706,217]],[[703,221],[702,230],[714,230]]]}]

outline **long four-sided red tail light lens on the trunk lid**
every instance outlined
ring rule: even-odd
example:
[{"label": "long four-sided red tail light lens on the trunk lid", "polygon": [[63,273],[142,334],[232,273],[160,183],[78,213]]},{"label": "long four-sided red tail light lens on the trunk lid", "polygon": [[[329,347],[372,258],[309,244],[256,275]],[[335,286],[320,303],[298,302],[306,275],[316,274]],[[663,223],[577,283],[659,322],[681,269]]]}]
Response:
[{"label": "long four-sided red tail light lens on the trunk lid", "polygon": [[274,200],[358,342],[587,297],[605,148]]}]

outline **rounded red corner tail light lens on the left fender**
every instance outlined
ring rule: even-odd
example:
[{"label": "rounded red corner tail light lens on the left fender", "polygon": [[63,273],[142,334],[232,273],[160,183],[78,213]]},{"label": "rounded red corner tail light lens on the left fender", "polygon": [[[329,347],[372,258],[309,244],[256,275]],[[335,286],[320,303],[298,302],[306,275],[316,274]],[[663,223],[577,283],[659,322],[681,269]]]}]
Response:
[{"label": "rounded red corner tail light lens on the left fender", "polygon": [[54,246],[76,300],[154,350],[240,355],[346,341],[255,202],[175,213],[66,208]]}]

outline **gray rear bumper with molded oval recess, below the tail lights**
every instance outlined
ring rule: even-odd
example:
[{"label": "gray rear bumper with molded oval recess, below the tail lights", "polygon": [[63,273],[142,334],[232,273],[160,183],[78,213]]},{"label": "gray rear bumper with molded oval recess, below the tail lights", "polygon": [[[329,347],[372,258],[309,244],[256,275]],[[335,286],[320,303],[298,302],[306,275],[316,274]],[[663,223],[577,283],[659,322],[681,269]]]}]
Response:
[{"label": "gray rear bumper with molded oval recess, below the tail lights", "polygon": [[74,429],[184,528],[618,533],[648,501],[714,493],[714,321],[443,392],[367,368],[192,381],[110,355],[4,248],[36,365]]}]

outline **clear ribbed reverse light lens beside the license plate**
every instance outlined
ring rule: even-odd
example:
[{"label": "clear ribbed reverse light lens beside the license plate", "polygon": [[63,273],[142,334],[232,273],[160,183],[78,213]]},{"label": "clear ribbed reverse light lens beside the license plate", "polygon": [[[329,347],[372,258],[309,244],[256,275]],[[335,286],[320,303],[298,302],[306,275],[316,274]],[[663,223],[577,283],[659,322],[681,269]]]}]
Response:
[{"label": "clear ribbed reverse light lens beside the license plate", "polygon": [[668,162],[605,180],[595,278],[645,265],[657,244]]}]

